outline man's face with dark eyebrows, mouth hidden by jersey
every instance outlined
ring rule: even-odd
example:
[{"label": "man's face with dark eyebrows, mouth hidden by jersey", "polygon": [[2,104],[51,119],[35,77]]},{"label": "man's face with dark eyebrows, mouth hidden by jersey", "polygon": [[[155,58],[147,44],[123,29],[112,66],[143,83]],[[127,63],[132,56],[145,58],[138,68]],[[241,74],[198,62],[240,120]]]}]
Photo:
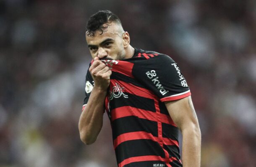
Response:
[{"label": "man's face with dark eyebrows, mouth hidden by jersey", "polygon": [[86,41],[92,58],[109,60],[122,60],[125,57],[125,48],[122,30],[120,25],[110,23],[108,27],[102,31],[97,30],[94,36],[87,36]]}]

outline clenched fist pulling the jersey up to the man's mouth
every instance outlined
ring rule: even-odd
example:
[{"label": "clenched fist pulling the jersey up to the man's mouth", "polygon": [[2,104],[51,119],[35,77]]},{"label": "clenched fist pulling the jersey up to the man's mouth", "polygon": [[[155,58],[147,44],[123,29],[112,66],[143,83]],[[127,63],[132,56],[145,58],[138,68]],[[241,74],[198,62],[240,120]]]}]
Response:
[{"label": "clenched fist pulling the jersey up to the man's mouth", "polygon": [[94,80],[94,87],[106,90],[110,85],[110,76],[112,73],[110,68],[100,61],[98,57],[95,57],[89,71]]}]

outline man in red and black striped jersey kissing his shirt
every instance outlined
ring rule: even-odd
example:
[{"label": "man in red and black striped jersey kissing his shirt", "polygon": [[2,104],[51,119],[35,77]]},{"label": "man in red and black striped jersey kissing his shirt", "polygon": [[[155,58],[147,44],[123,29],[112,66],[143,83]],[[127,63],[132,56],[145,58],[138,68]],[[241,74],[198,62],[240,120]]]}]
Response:
[{"label": "man in red and black striped jersey kissing his shirt", "polygon": [[119,18],[108,10],[91,15],[86,41],[93,60],[78,125],[81,140],[96,141],[106,111],[118,167],[199,167],[201,132],[175,61],[133,48]]}]

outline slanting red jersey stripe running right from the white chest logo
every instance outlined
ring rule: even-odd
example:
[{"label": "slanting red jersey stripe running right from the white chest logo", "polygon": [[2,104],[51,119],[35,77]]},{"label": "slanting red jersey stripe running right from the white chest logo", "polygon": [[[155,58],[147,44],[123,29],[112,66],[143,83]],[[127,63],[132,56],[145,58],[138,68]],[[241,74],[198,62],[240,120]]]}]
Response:
[{"label": "slanting red jersey stripe running right from the white chest logo", "polygon": [[139,86],[135,86],[132,83],[126,83],[124,81],[111,79],[110,80],[110,88],[112,86],[115,86],[115,83],[118,83],[120,86],[124,87],[123,92],[127,92],[129,94],[134,94],[136,96],[141,96],[149,99],[159,99],[152,91],[149,91],[148,89],[141,88]]}]

